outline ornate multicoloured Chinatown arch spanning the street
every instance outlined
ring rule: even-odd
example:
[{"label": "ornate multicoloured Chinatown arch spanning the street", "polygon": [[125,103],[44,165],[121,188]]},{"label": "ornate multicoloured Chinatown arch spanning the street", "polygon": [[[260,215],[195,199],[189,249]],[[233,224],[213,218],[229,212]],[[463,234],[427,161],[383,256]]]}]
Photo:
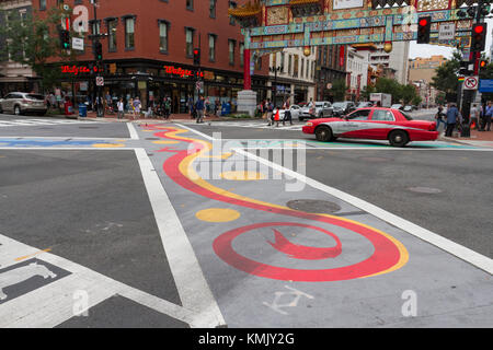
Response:
[{"label": "ornate multicoloured Chinatown arch spanning the street", "polygon": [[[309,55],[312,46],[351,45],[369,49],[383,43],[387,52],[392,42],[417,38],[421,18],[432,20],[429,44],[470,46],[473,19],[458,15],[460,8],[474,0],[250,0],[229,10],[240,23],[244,35],[244,86],[239,93],[240,106],[255,104],[251,91],[250,61],[287,47],[303,47]],[[463,8],[462,8],[463,10]],[[455,26],[455,39],[438,40],[442,24]],[[246,93],[250,91],[250,94]],[[250,101],[250,103],[249,103]]]}]

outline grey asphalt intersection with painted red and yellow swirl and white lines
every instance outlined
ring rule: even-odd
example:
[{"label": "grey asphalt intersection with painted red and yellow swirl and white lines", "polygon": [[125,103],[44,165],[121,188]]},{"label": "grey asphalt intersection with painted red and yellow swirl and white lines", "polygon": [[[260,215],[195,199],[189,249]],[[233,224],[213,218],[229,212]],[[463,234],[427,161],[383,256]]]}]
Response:
[{"label": "grey asphalt intersection with painted red and yellow swirl and white lines", "polygon": [[490,148],[22,119],[0,327],[493,326]]}]

